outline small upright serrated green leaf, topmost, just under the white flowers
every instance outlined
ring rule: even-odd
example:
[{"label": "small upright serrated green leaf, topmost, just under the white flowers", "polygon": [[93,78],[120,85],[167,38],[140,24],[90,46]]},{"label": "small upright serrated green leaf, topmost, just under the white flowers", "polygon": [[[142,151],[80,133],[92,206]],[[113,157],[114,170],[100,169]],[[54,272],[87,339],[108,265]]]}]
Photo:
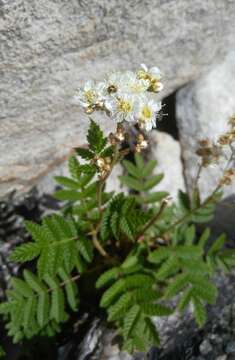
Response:
[{"label": "small upright serrated green leaf, topmost, just under the white flowers", "polygon": [[90,121],[87,141],[89,143],[90,150],[95,153],[100,153],[107,143],[107,139],[104,137],[100,127],[92,119]]}]

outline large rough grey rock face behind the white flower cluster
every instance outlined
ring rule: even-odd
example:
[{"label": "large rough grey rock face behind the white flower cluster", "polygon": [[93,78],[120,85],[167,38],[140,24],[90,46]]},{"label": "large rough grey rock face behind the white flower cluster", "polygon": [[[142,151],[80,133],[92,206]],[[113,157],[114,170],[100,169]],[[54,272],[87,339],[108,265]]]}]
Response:
[{"label": "large rough grey rock face behind the white flower cluster", "polygon": [[234,48],[234,16],[233,0],[0,0],[0,194],[27,190],[84,143],[70,104],[81,81],[144,61],[169,94]]}]

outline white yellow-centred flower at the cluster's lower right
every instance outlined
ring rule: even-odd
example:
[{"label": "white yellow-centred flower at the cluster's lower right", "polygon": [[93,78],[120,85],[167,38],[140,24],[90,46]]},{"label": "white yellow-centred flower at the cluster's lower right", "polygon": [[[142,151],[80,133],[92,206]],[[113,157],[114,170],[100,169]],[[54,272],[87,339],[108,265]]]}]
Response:
[{"label": "white yellow-centred flower at the cluster's lower right", "polygon": [[150,131],[156,126],[157,113],[161,110],[161,103],[154,100],[142,102],[139,105],[137,117],[139,126],[147,131]]}]

